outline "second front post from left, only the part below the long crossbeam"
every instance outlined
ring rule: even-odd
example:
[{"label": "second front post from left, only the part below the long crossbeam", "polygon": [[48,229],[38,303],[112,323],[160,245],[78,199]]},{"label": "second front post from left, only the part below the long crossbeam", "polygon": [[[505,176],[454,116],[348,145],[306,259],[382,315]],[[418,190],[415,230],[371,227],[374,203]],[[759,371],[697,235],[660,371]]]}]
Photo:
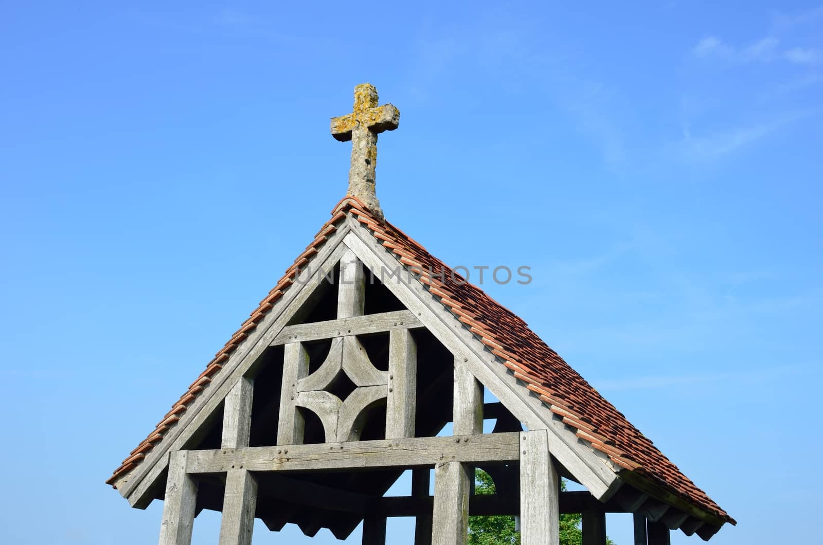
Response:
[{"label": "second front post from left, only the part below the long crossbeam", "polygon": [[226,473],[220,545],[251,545],[254,510],[257,507],[257,481],[245,469]]}]

